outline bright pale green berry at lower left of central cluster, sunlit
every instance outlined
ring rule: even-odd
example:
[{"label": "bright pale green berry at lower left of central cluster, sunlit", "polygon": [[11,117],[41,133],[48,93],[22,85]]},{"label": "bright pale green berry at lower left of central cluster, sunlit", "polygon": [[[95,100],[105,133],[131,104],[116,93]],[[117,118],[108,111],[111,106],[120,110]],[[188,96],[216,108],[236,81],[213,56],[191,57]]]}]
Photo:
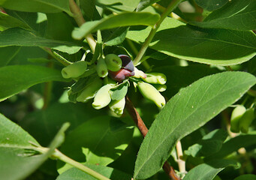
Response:
[{"label": "bright pale green berry at lower left of central cluster, sunlit", "polygon": [[111,88],[113,88],[113,86],[109,84],[102,86],[101,89],[99,89],[95,95],[94,101],[92,103],[92,107],[94,107],[96,110],[107,107],[107,105],[110,104],[110,101],[111,101],[111,97],[110,97]]}]

